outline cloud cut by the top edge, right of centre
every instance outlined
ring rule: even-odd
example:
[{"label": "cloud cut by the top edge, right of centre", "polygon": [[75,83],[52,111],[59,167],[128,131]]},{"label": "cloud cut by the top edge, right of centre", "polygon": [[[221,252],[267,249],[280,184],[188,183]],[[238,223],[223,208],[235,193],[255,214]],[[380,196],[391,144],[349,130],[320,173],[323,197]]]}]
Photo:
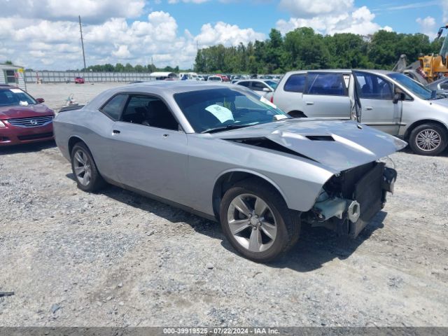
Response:
[{"label": "cloud cut by the top edge, right of centre", "polygon": [[353,7],[353,0],[281,0],[279,7],[297,18],[329,13],[344,13]]}]

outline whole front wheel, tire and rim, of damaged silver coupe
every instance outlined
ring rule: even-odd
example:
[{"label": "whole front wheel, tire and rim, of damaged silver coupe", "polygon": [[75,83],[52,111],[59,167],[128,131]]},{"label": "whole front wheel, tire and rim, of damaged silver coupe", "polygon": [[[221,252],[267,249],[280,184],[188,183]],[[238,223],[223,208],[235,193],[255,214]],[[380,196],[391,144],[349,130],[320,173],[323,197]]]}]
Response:
[{"label": "whole front wheel, tire and rim, of damaged silver coupe", "polygon": [[293,216],[275,188],[255,179],[241,181],[225,193],[220,219],[230,244],[256,262],[278,257],[300,233],[299,216]]}]

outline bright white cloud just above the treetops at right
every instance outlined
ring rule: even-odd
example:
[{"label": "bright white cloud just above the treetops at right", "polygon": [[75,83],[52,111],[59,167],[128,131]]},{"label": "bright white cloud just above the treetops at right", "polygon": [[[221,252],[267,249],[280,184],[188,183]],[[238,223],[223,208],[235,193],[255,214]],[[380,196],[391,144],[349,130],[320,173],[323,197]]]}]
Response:
[{"label": "bright white cloud just above the treetops at right", "polygon": [[375,31],[384,29],[392,31],[391,27],[381,27],[374,22],[375,15],[366,6],[351,8],[345,13],[331,13],[327,15],[316,15],[312,18],[290,18],[290,20],[279,20],[276,27],[283,34],[299,27],[311,27],[321,34],[354,33],[360,35],[373,34]]}]

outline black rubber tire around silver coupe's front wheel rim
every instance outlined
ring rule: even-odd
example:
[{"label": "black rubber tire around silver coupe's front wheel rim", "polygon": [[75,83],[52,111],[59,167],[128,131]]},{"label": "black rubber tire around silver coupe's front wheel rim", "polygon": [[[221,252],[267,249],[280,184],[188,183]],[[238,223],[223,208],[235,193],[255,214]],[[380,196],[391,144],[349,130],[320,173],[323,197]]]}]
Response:
[{"label": "black rubber tire around silver coupe's front wheel rim", "polygon": [[[265,251],[249,251],[248,248],[245,248],[237,241],[230,229],[228,221],[230,204],[235,200],[235,197],[247,194],[260,197],[267,204],[269,212],[272,213],[276,221],[276,237],[272,240],[272,245]],[[279,192],[270,186],[269,183],[260,183],[259,179],[240,181],[225,192],[221,200],[220,221],[225,237],[227,237],[235,250],[245,258],[255,262],[269,262],[278,258],[297,242],[300,235],[300,213],[290,211]],[[252,229],[257,230],[251,227],[248,227],[246,230],[251,232]]]}]

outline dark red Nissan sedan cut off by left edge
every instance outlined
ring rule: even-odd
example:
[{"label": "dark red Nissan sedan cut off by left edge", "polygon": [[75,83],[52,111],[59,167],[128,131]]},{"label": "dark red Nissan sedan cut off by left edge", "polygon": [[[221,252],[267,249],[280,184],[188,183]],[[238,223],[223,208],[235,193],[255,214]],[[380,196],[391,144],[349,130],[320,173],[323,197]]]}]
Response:
[{"label": "dark red Nissan sedan cut off by left edge", "polygon": [[0,146],[54,139],[55,112],[18,87],[0,85]]}]

